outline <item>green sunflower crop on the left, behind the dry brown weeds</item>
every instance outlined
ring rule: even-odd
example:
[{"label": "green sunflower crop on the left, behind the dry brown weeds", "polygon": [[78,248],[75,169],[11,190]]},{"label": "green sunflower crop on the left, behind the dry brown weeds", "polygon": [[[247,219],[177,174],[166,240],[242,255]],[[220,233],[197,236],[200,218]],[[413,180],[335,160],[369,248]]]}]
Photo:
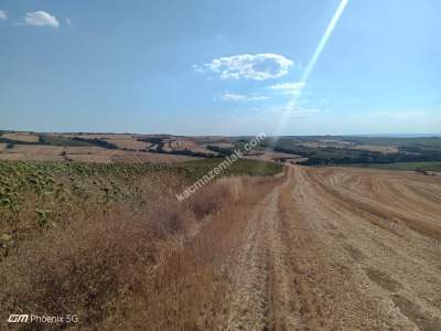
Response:
[{"label": "green sunflower crop on the left, behind the dry brown weeds", "polygon": [[[66,214],[57,213],[73,199],[94,197],[100,203],[137,200],[146,203],[138,190],[146,177],[175,178],[179,185],[196,181],[223,159],[207,159],[174,164],[94,164],[79,162],[0,161],[0,225],[8,228],[22,212],[33,211],[39,225],[57,224]],[[273,175],[282,166],[257,160],[238,160],[225,175]],[[32,207],[30,206],[32,196]],[[31,215],[32,216],[32,215]],[[17,228],[14,229],[17,231]]]}]

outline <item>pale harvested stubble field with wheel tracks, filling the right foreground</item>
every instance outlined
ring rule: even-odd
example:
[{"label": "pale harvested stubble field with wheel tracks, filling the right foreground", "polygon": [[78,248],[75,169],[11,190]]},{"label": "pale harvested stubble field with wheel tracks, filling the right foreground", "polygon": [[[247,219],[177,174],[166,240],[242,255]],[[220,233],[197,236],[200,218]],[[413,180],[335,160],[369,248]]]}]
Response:
[{"label": "pale harvested stubble field with wheel tracks, filling the right foreground", "polygon": [[227,261],[222,329],[441,329],[441,179],[291,167]]}]

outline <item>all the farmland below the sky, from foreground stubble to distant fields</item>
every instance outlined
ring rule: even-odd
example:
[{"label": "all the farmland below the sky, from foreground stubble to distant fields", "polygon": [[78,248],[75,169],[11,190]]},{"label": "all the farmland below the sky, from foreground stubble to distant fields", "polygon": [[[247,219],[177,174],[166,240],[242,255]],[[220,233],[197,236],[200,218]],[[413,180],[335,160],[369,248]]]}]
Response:
[{"label": "all the farmland below the sky, from foreground stubble to distant fields", "polygon": [[[179,202],[247,139],[8,137],[0,323],[35,311],[104,330],[441,325],[441,178],[424,172],[437,161],[334,167],[364,145],[267,139]],[[413,142],[368,152],[438,149]],[[325,167],[292,164],[306,160]]]}]

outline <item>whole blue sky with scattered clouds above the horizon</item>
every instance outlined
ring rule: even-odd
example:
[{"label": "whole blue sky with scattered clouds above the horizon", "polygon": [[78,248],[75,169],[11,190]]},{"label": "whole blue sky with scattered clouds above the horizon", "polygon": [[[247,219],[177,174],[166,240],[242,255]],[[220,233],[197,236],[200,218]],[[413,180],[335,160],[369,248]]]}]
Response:
[{"label": "whole blue sky with scattered clouds above the horizon", "polygon": [[0,0],[0,129],[440,134],[440,13],[439,0]]}]

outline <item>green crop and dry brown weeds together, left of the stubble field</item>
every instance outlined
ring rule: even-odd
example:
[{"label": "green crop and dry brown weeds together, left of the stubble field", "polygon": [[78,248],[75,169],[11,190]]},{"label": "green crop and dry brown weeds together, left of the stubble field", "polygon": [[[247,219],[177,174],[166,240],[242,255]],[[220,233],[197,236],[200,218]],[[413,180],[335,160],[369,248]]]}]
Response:
[{"label": "green crop and dry brown weeds together, left of the stubble field", "polygon": [[[216,233],[233,226],[233,220],[206,227],[209,237],[185,253],[183,247],[212,217],[218,217],[225,203],[240,203],[247,192],[244,185],[252,185],[259,199],[272,185],[272,179],[262,175],[282,171],[278,164],[239,160],[223,173],[224,179],[178,203],[175,193],[219,161],[1,161],[1,323],[9,313],[28,311],[77,313],[82,328],[136,328],[138,323],[146,328],[151,323],[150,329],[160,330],[161,323],[170,328],[194,322],[201,307],[176,306],[170,291],[182,292],[179,287],[186,286],[185,296],[204,295],[198,286],[208,286],[215,281],[209,277],[218,275],[202,268],[193,279],[191,273],[201,263],[213,263],[211,257],[219,254],[211,248]],[[237,174],[250,177],[226,178]],[[220,249],[219,245],[227,247],[224,242],[215,246]],[[193,255],[192,249],[197,253]],[[153,273],[155,268],[160,269]],[[171,301],[164,301],[165,297]]]}]

